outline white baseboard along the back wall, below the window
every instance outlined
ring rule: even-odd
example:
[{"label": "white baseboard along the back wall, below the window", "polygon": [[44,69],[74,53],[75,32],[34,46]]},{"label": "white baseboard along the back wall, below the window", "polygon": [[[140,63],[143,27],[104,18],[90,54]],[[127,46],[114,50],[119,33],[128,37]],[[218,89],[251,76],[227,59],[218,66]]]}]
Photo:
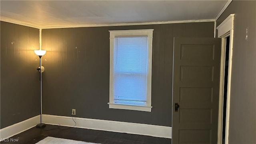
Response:
[{"label": "white baseboard along the back wall, below the window", "polygon": [[[160,138],[172,138],[172,127],[169,126],[156,126],[150,124],[138,124],[131,122],[118,122],[111,120],[97,120],[90,118],[76,118],[76,128],[87,128],[93,130],[104,130],[110,132],[123,132],[128,134],[140,134],[146,136],[155,136]],[[42,115],[42,121],[45,124],[60,124],[61,126],[74,126],[72,117],[68,116],[55,116],[55,115]]]}]

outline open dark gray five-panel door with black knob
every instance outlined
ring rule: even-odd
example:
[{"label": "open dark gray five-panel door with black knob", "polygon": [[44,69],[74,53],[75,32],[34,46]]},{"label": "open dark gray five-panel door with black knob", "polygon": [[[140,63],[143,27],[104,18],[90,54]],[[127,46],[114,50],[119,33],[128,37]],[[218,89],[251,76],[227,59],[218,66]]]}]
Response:
[{"label": "open dark gray five-panel door with black knob", "polygon": [[216,144],[220,38],[174,38],[172,144]]}]

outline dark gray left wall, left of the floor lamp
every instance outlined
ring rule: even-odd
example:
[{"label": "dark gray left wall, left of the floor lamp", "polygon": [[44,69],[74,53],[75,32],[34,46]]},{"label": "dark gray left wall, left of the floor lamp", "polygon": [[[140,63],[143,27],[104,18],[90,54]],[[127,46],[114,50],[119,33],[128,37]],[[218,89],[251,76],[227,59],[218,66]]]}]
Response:
[{"label": "dark gray left wall, left of the floor lamp", "polygon": [[39,30],[1,21],[0,128],[40,114]]}]

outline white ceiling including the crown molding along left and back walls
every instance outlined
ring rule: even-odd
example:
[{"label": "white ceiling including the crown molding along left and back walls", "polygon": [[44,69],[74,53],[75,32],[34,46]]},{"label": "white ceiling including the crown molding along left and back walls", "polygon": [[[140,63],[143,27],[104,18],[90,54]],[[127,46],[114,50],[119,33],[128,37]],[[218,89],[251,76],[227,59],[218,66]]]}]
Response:
[{"label": "white ceiling including the crown molding along left and back walls", "polygon": [[215,19],[228,0],[0,0],[0,18],[38,28]]}]

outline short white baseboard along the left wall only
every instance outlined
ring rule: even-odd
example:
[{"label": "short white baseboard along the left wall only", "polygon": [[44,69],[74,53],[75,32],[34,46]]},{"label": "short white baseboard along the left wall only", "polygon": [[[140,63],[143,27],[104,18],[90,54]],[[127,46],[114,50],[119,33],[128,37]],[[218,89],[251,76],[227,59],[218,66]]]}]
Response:
[{"label": "short white baseboard along the left wall only", "polygon": [[39,122],[40,122],[40,115],[34,116],[34,117],[24,120],[22,122],[18,122],[11,126],[2,128],[2,129],[0,129],[0,139],[3,140],[5,138],[10,138],[16,134],[24,132],[25,130],[28,130],[28,129],[36,126],[36,124],[38,124]]}]

